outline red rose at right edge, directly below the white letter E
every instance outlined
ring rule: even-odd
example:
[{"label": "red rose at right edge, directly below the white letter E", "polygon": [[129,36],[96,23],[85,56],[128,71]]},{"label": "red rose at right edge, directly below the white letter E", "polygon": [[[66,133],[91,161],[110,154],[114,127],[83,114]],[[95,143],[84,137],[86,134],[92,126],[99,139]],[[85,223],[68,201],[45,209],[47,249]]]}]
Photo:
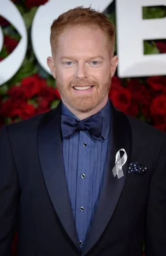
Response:
[{"label": "red rose at right edge, directly below the white letter E", "polygon": [[151,76],[146,81],[155,90],[166,90],[166,77],[165,76]]}]

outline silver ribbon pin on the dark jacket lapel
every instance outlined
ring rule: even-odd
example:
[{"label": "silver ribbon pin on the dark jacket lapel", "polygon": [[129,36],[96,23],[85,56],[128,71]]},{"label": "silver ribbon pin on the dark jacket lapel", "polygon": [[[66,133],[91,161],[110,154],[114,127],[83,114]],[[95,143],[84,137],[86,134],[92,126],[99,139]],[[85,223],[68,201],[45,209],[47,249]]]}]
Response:
[{"label": "silver ribbon pin on the dark jacket lapel", "polygon": [[[124,152],[122,158],[120,158],[120,151]],[[126,163],[126,161],[127,161],[127,153],[124,150],[124,148],[121,148],[119,151],[117,151],[117,154],[115,157],[115,166],[112,169],[114,177],[117,175],[117,178],[120,179],[121,177],[124,176],[122,166]]]}]

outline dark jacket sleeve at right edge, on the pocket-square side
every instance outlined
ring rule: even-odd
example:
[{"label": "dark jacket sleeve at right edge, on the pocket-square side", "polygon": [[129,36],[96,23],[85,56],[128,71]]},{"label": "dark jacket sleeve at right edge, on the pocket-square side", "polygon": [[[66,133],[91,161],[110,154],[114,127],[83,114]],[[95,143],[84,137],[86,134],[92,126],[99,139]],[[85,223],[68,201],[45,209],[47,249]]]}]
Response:
[{"label": "dark jacket sleeve at right edge, on the pocket-square side", "polygon": [[166,140],[150,183],[145,253],[146,256],[166,255]]}]

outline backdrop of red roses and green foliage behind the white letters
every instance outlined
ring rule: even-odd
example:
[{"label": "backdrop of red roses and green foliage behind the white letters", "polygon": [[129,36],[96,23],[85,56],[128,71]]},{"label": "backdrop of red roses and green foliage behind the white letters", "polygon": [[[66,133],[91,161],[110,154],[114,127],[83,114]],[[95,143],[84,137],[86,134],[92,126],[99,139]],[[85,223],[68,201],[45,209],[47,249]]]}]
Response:
[{"label": "backdrop of red roses and green foliage behind the white letters", "polygon": [[[12,1],[23,16],[30,35],[31,22],[38,6],[48,0]],[[116,26],[115,1],[105,13]],[[160,17],[166,17],[166,7],[143,8],[143,19]],[[3,61],[19,44],[20,35],[8,20],[1,16],[0,26],[4,35],[4,45],[0,52],[0,61]],[[166,53],[165,40],[144,41],[144,54],[162,53]],[[166,132],[166,76],[120,79],[115,74],[109,98],[124,113]],[[22,66],[16,75],[0,86],[0,127],[49,111],[55,108],[59,101],[60,94],[56,89],[56,83],[53,77],[40,67],[29,40]],[[16,255],[16,241],[17,234],[13,243],[13,255]]]}]

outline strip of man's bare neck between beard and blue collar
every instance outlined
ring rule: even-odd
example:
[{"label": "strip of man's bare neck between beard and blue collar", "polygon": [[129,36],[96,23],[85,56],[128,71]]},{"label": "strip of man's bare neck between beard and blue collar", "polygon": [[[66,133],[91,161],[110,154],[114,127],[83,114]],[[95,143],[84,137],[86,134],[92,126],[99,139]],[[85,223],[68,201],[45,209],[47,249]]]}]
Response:
[{"label": "strip of man's bare neck between beard and blue collar", "polygon": [[69,106],[68,104],[66,104],[66,102],[63,102],[63,104],[69,109],[69,111],[71,111],[74,114],[74,116],[77,116],[78,119],[83,120],[83,119],[86,119],[89,116],[92,116],[92,115],[96,114],[102,108],[104,108],[105,105],[108,102],[108,99],[109,98],[108,98],[108,95],[107,95],[106,98],[96,108],[93,108],[92,110],[90,110],[88,112],[77,111],[74,108],[72,108],[71,106]]}]

